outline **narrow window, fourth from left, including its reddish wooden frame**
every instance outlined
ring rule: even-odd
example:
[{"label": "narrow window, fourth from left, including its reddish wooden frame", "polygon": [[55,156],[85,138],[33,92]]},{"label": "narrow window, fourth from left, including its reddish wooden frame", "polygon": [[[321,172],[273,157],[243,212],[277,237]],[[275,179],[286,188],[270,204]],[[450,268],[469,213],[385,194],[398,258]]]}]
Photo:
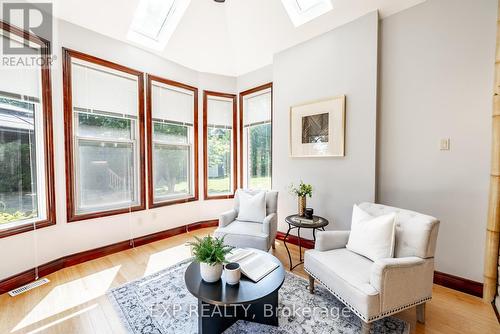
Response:
[{"label": "narrow window, fourth from left, including its reddish wooden frame", "polygon": [[236,95],[203,94],[204,191],[206,199],[232,198],[236,191]]}]

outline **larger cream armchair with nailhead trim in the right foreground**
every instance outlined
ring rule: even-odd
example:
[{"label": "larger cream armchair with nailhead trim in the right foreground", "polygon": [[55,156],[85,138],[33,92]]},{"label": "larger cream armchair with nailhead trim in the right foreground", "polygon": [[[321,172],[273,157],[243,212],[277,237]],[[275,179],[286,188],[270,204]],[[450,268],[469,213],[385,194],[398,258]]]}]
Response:
[{"label": "larger cream armchair with nailhead trim in the right foreground", "polygon": [[417,306],[417,320],[425,322],[425,303],[432,298],[434,252],[439,221],[431,216],[385,205],[362,203],[372,216],[396,212],[394,258],[375,262],[345,248],[349,231],[319,232],[314,250],[305,253],[309,291],[322,283],[362,320],[369,333],[378,319]]}]

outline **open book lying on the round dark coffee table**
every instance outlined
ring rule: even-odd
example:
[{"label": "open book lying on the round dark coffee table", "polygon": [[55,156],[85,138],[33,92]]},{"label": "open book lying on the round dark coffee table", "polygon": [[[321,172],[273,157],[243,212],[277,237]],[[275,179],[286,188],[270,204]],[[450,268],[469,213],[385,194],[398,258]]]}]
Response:
[{"label": "open book lying on the round dark coffee table", "polygon": [[251,249],[236,248],[226,257],[226,260],[238,263],[242,274],[254,282],[260,281],[279,267],[277,263]]}]

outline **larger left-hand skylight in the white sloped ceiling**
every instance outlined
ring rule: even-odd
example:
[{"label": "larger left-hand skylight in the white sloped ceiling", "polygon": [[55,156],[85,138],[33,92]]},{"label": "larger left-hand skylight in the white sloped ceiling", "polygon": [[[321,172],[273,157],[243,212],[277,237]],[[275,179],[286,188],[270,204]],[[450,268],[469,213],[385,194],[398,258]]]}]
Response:
[{"label": "larger left-hand skylight in the white sloped ceiling", "polygon": [[148,48],[163,50],[191,0],[140,0],[128,39]]}]

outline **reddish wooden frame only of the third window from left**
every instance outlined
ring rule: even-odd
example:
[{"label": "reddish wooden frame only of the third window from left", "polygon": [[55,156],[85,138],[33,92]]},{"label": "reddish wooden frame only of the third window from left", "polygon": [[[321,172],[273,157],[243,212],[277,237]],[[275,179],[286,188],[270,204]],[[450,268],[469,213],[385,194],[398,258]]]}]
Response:
[{"label": "reddish wooden frame only of the third window from left", "polygon": [[[146,93],[146,123],[147,123],[147,145],[148,145],[148,208],[158,208],[162,206],[181,204],[197,201],[199,198],[199,167],[198,167],[198,88],[189,86],[177,81],[165,79],[152,74],[147,75],[147,93]],[[193,151],[194,151],[194,195],[184,198],[175,198],[154,203],[154,188],[153,188],[153,81],[163,83],[165,85],[183,88],[193,92],[194,110],[193,110]]]}]

